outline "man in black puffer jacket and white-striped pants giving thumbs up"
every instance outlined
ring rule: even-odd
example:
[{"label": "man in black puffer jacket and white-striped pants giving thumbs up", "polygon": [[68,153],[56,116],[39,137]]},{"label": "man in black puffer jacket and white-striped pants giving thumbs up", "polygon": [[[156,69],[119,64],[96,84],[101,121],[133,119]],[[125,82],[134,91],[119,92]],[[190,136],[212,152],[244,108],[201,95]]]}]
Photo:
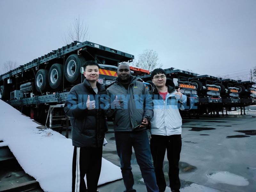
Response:
[{"label": "man in black puffer jacket and white-striped pants giving thumbs up", "polygon": [[64,110],[72,125],[74,146],[72,165],[72,192],[96,192],[100,177],[102,145],[107,131],[106,116],[100,108],[100,98],[106,95],[103,85],[97,82],[99,65],[95,61],[84,64],[84,82],[69,92]]}]

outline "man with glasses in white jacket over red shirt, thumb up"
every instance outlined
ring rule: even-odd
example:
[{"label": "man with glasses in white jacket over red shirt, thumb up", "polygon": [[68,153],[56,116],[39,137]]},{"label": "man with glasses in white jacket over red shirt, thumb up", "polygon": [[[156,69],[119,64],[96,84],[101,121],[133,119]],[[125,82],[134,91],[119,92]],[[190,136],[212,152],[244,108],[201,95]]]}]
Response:
[{"label": "man with glasses in white jacket over red shirt, thumb up", "polygon": [[[187,97],[166,85],[166,73],[157,68],[151,73],[154,88],[150,92],[153,100],[154,116],[151,123],[150,149],[156,172],[156,182],[159,192],[164,192],[166,182],[164,179],[163,162],[165,150],[169,161],[169,180],[172,192],[180,191],[179,161],[181,151],[181,125],[182,119],[179,108],[187,104]],[[188,99],[189,101],[189,99]]]}]

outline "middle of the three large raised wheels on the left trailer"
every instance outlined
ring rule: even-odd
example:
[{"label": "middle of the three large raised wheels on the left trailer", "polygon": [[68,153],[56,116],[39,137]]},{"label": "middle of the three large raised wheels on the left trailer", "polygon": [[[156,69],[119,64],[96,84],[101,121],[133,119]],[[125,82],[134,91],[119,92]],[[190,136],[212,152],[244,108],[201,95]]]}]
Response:
[{"label": "middle of the three large raised wheels on the left trailer", "polygon": [[52,89],[57,89],[63,83],[63,65],[55,63],[49,70],[49,85]]}]

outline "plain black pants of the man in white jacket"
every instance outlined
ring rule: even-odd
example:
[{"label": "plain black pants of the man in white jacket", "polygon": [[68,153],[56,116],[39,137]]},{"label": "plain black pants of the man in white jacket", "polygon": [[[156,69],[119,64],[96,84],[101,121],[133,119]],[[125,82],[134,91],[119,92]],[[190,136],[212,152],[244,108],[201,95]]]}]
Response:
[{"label": "plain black pants of the man in white jacket", "polygon": [[166,182],[164,179],[163,162],[165,150],[169,161],[169,180],[171,190],[180,189],[179,161],[181,151],[181,135],[151,135],[150,149],[153,157],[153,164],[156,172],[156,182],[159,191],[164,191]]}]

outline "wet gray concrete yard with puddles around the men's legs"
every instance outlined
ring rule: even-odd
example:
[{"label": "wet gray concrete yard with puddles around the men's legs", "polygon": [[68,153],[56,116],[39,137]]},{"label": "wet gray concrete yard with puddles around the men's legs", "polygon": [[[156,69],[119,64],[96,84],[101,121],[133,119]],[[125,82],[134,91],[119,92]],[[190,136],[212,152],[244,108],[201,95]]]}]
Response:
[{"label": "wet gray concrete yard with puddles around the men's legs", "polygon": [[[183,119],[180,191],[256,191],[255,134],[256,118],[250,115]],[[120,166],[112,123],[109,123],[106,139],[108,145],[103,147],[103,157]],[[147,191],[134,153],[131,163],[134,188],[138,192]],[[168,166],[165,155],[163,169],[167,186]],[[123,180],[98,188],[100,192],[124,189]]]}]

